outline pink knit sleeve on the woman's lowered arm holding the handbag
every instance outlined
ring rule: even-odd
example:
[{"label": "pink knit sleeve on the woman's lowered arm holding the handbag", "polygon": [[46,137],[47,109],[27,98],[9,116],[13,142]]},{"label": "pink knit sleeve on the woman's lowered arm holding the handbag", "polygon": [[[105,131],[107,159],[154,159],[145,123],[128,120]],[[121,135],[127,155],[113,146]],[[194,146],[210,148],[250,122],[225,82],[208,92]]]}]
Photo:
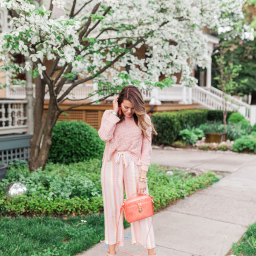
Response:
[{"label": "pink knit sleeve on the woman's lowered arm holding the handbag", "polygon": [[[148,116],[148,115],[147,115]],[[151,123],[151,118],[148,116]],[[148,167],[150,166],[150,159],[152,153],[152,127],[148,126],[146,130],[146,134],[148,135],[148,139],[143,136],[142,147],[141,147],[141,166],[142,170],[148,171]],[[149,140],[149,141],[148,141]]]}]

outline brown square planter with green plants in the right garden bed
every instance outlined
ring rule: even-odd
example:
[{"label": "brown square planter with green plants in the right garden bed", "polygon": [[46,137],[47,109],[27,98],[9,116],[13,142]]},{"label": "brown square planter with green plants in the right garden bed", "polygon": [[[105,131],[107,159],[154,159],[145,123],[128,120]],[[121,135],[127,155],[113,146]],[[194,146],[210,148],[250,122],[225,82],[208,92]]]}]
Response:
[{"label": "brown square planter with green plants in the right garden bed", "polygon": [[227,140],[227,132],[223,123],[209,122],[200,125],[200,129],[204,131],[206,143],[221,143]]}]

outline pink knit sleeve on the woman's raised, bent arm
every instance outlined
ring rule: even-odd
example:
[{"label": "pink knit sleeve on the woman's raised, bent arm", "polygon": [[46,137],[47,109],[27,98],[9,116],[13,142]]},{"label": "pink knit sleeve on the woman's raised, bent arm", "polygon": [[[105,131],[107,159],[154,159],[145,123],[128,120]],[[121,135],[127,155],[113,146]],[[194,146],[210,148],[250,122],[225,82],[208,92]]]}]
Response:
[{"label": "pink knit sleeve on the woman's raised, bent arm", "polygon": [[105,110],[101,118],[98,134],[103,141],[109,141],[113,138],[116,124],[120,121],[119,117],[111,113],[112,111],[113,110]]}]

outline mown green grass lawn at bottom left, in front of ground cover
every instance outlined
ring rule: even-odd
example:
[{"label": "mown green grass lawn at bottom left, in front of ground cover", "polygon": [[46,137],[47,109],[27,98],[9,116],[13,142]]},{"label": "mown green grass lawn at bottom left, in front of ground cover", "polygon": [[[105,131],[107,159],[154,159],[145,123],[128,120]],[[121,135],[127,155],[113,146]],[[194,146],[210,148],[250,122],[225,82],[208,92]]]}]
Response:
[{"label": "mown green grass lawn at bottom left, in front of ground cover", "polygon": [[[82,222],[86,220],[87,222]],[[124,227],[130,224],[125,221]],[[0,255],[75,255],[104,239],[104,216],[0,219]]]}]

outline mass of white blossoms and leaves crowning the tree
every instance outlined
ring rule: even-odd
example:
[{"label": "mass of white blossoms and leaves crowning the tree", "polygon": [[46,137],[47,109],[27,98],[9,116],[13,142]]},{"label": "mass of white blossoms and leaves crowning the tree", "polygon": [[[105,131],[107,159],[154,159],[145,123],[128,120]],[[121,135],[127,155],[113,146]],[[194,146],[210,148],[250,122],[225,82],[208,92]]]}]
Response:
[{"label": "mass of white blossoms and leaves crowning the tree", "polygon": [[[132,38],[131,44],[134,44],[136,37],[143,37],[136,48],[146,48],[145,58],[138,57],[137,50],[133,48],[132,54],[124,54],[93,80],[121,85],[123,79],[119,74],[126,74],[124,67],[129,65],[131,79],[139,80],[144,87],[147,86],[145,81],[154,84],[161,74],[176,81],[174,74],[180,72],[180,82],[193,85],[197,82],[190,76],[194,66],[205,67],[209,61],[207,40],[201,28],[232,26],[229,19],[221,17],[221,13],[239,14],[244,2],[93,0],[75,18],[70,18],[66,15],[70,11],[65,11],[65,7],[69,9],[72,0],[53,0],[52,4],[62,10],[58,10],[59,16],[55,12],[49,18],[50,12],[45,5],[37,11],[33,2],[27,0],[0,0],[2,8],[18,10],[19,13],[19,17],[11,19],[14,29],[0,34],[0,59],[9,65],[11,55],[17,53],[30,57],[33,62],[40,60],[44,63],[44,57],[48,60],[58,58],[58,67],[68,63],[72,72],[85,78],[104,68],[106,61],[117,58],[128,45],[127,38]],[[79,33],[97,3],[101,6],[92,19],[100,19],[100,23],[94,28],[96,22],[92,20],[85,33],[87,38],[81,40]],[[75,12],[83,5],[84,0],[77,0]],[[105,6],[111,6],[111,12],[103,17]],[[4,35],[10,36],[9,45]],[[41,75],[45,66],[38,64],[37,67]],[[10,68],[9,72],[14,74],[16,71]]]}]

